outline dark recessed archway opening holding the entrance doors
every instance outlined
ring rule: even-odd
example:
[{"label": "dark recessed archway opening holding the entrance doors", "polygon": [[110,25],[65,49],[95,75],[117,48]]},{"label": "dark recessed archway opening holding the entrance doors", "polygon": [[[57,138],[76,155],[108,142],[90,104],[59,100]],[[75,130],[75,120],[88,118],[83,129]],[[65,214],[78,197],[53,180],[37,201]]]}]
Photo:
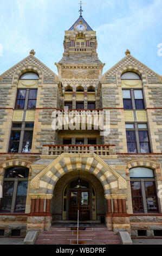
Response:
[{"label": "dark recessed archway opening holding the entrance doors", "polygon": [[[78,177],[81,185],[76,188],[75,181]],[[88,197],[85,202],[83,202],[84,197]],[[81,221],[100,221],[101,216],[106,214],[106,199],[101,182],[94,174],[81,170],[64,174],[57,181],[51,199],[53,222],[74,221],[77,218],[77,210]]]}]

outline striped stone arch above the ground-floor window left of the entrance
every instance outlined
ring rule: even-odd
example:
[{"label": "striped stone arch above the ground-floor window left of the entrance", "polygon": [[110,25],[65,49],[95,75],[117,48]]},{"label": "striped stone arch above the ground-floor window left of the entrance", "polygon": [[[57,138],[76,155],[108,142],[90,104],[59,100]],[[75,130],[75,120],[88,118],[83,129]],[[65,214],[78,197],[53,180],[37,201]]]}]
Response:
[{"label": "striped stone arch above the ground-floor window left of the entrance", "polygon": [[4,161],[0,164],[0,167],[3,169],[7,169],[12,166],[22,166],[22,167],[30,168],[31,163],[29,161],[22,160],[22,159],[12,159],[12,160]]}]

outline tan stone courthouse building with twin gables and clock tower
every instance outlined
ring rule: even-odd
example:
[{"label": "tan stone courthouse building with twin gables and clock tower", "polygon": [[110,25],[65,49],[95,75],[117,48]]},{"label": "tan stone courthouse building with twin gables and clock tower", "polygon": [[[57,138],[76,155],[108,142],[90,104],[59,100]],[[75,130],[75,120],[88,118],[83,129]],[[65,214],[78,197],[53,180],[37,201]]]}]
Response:
[{"label": "tan stone courthouse building with twin gables and clock tower", "polygon": [[[102,74],[97,46],[80,15],[58,75],[31,50],[0,76],[0,236],[41,234],[78,210],[80,222],[114,234],[162,236],[162,76],[129,50]],[[93,121],[81,129],[83,110]],[[106,113],[109,132],[94,123]]]}]

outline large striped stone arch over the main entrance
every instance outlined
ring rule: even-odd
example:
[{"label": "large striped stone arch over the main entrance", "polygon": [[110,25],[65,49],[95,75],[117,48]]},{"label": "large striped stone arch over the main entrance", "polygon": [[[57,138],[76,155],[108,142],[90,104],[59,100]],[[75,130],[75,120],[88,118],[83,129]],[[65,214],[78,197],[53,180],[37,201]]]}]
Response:
[{"label": "large striped stone arch over the main entrance", "polygon": [[[32,164],[31,168],[38,169],[38,165]],[[105,194],[125,193],[127,188],[126,180],[97,155],[63,153],[31,180],[31,193],[53,194],[56,182],[73,170],[94,174],[100,180]]]}]

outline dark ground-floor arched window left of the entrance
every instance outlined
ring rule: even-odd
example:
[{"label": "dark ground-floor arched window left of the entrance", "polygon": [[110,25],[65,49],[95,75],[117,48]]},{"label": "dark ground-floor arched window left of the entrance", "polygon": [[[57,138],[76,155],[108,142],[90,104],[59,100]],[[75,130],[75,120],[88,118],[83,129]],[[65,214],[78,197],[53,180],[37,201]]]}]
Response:
[{"label": "dark ground-floor arched window left of the entrance", "polygon": [[21,166],[5,169],[1,212],[25,212],[29,169]]}]

